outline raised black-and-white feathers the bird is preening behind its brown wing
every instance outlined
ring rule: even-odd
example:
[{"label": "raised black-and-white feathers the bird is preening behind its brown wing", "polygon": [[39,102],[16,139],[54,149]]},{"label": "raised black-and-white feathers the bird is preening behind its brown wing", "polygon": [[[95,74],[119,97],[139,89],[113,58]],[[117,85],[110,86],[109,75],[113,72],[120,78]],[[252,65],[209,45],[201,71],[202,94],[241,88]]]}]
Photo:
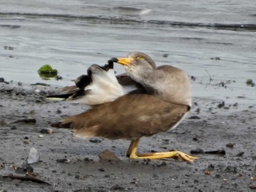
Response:
[{"label": "raised black-and-white feathers the bird is preening behind its brown wing", "polygon": [[92,64],[87,69],[87,74],[82,74],[75,80],[75,85],[62,88],[62,94],[49,95],[46,98],[94,106],[113,101],[135,88],[143,89],[125,73],[115,76],[113,61],[108,61],[104,66]]}]

